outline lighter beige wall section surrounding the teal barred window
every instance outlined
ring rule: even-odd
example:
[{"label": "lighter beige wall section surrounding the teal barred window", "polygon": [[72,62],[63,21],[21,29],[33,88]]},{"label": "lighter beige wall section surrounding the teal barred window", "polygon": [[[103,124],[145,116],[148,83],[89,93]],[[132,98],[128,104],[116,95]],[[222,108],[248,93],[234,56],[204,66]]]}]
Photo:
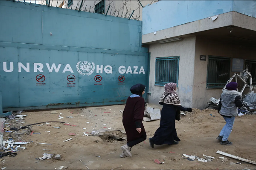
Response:
[{"label": "lighter beige wall section surrounding the teal barred window", "polygon": [[177,92],[179,93],[181,105],[183,107],[191,107],[194,82],[195,36],[176,42],[151,44],[149,52],[151,57],[148,92],[151,95],[148,95],[148,102],[158,104],[160,96],[164,91],[163,86],[154,85],[156,57],[180,56]]}]

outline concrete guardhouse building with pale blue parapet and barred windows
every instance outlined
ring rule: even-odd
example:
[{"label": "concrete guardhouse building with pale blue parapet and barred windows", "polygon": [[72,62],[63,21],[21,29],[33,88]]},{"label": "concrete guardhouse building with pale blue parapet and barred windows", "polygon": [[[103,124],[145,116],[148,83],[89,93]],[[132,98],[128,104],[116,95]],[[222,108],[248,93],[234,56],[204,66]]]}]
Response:
[{"label": "concrete guardhouse building with pale blue parapet and barred windows", "polygon": [[255,0],[159,1],[143,8],[142,43],[151,54],[149,103],[176,82],[183,106],[204,109],[244,68],[256,85]]}]

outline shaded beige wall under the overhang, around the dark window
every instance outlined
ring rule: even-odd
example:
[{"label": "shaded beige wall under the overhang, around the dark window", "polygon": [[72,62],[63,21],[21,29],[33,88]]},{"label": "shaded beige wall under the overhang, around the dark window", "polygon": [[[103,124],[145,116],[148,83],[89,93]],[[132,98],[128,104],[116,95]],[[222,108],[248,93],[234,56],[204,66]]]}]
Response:
[{"label": "shaded beige wall under the overhang, around the dark window", "polygon": [[[202,37],[196,37],[195,41],[195,74],[193,86],[193,108],[204,109],[211,97],[219,99],[222,93],[222,88],[208,88],[207,89],[207,65],[208,56],[230,57],[230,77],[232,72],[232,58],[252,59],[256,60],[256,48],[249,48],[242,45],[231,45],[221,41],[207,40]],[[200,61],[200,55],[207,55],[206,61]],[[245,61],[244,61],[245,62]],[[235,79],[234,79],[235,80]],[[239,85],[243,86],[241,81]],[[241,89],[239,89],[241,90]],[[249,88],[244,90],[243,94],[248,93]],[[255,89],[254,89],[255,91]]]}]

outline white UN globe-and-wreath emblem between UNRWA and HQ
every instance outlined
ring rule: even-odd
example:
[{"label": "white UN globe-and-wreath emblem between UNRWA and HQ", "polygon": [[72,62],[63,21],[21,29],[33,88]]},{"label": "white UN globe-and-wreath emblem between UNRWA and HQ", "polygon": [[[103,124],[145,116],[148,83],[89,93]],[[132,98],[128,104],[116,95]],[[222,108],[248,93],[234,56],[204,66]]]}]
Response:
[{"label": "white UN globe-and-wreath emblem between UNRWA and HQ", "polygon": [[87,61],[84,61],[84,62],[81,62],[79,61],[77,64],[76,64],[76,70],[79,72],[79,74],[81,75],[91,75],[93,74],[93,71],[95,70],[95,64],[92,62],[92,64],[90,62],[87,62]]}]

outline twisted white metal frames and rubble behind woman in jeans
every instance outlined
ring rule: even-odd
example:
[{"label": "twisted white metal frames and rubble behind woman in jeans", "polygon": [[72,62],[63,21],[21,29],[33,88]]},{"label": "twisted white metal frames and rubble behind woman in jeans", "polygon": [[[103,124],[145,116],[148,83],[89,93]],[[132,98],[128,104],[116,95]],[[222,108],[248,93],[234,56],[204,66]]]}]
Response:
[{"label": "twisted white metal frames and rubble behind woman in jeans", "polygon": [[[243,94],[244,89],[246,87],[248,87],[246,81],[248,78],[250,78],[249,93],[244,94],[242,97],[244,106],[242,108],[238,109],[239,116],[244,115],[244,114],[256,114],[256,94],[253,91],[252,76],[251,76],[250,72],[247,69],[245,69],[244,71],[240,72],[240,75],[235,73],[227,81],[227,84],[232,82],[232,80],[234,78],[236,79],[236,82],[238,81],[237,78],[239,78],[244,83],[244,85],[240,91],[241,94]],[[226,85],[224,86],[222,91],[224,91],[226,89]],[[218,109],[219,102],[220,102],[220,99],[215,99],[214,97],[212,97],[207,105],[207,108]]]}]

